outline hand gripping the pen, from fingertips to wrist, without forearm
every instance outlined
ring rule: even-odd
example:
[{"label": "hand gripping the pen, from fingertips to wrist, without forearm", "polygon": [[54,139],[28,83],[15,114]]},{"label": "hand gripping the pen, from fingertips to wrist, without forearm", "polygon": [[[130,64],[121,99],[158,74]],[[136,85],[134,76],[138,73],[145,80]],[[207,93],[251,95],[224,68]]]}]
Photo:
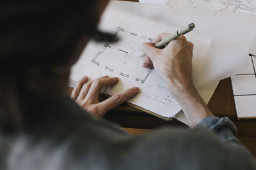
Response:
[{"label": "hand gripping the pen, from fingertips to wrist, without forearm", "polygon": [[168,36],[170,34],[162,33],[151,43],[144,43],[142,50],[148,56],[143,67],[154,67],[159,76],[171,87],[177,83],[191,83],[193,43],[187,41],[185,36],[179,36],[163,49],[153,46]]}]

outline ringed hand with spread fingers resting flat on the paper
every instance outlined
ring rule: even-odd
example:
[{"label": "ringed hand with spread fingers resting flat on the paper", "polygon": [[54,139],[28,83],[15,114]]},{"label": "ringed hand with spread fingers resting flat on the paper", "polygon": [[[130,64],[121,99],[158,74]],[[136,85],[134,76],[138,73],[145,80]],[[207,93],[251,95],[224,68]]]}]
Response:
[{"label": "ringed hand with spread fingers resting flat on the paper", "polygon": [[138,87],[132,87],[100,103],[98,97],[102,87],[115,85],[117,82],[117,77],[109,78],[109,76],[102,76],[95,80],[88,81],[88,77],[84,76],[77,82],[76,87],[72,91],[71,98],[84,108],[84,110],[92,113],[92,115],[97,118],[101,118],[108,110],[124,103],[124,101],[135,96],[140,91]]}]

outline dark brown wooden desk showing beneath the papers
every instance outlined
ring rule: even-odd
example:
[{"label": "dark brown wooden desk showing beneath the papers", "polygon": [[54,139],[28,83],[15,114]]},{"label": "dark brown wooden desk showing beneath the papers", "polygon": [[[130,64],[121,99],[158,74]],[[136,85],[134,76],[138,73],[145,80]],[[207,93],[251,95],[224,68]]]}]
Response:
[{"label": "dark brown wooden desk showing beneath the papers", "polygon": [[[133,1],[138,2],[137,0]],[[236,124],[239,132],[237,138],[239,138],[243,145],[256,157],[256,119],[237,119],[230,78],[220,81],[207,106],[217,117],[229,117]],[[165,120],[153,117],[125,104],[108,111],[104,118],[119,124],[121,127],[124,127],[125,131],[131,134],[152,131],[152,129],[163,125],[187,127],[178,120],[174,119],[166,122]]]}]

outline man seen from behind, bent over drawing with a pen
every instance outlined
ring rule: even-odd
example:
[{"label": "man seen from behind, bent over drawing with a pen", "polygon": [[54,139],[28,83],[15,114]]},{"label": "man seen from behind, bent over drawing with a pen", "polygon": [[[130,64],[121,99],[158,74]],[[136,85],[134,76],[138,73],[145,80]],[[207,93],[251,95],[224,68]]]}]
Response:
[{"label": "man seen from behind, bent over drawing with a pen", "polygon": [[0,169],[255,169],[254,157],[234,136],[235,125],[214,117],[193,87],[193,44],[184,36],[161,50],[153,44],[167,33],[145,43],[143,67],[154,66],[191,130],[165,128],[129,136],[99,120],[139,91],[134,87],[99,103],[100,89],[118,78],[88,81],[84,76],[72,92],[80,106],[69,99],[70,67],[84,45],[91,38],[109,38],[96,29],[107,3],[1,5]]}]

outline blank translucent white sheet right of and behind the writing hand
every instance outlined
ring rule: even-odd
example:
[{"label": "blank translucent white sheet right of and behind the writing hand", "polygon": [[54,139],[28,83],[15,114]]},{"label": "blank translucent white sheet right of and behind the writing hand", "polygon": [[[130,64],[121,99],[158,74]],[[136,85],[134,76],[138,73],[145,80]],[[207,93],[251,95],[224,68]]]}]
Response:
[{"label": "blank translucent white sheet right of and behind the writing hand", "polygon": [[248,65],[248,52],[256,32],[256,18],[253,15],[180,7],[168,10],[168,6],[158,4],[124,5],[122,2],[116,2],[115,6],[119,10],[152,18],[159,23],[177,26],[182,25],[180,21],[194,22],[198,34],[212,36],[207,58],[199,61],[204,65],[193,67],[193,81],[197,87],[204,87],[207,83],[237,74]]}]

